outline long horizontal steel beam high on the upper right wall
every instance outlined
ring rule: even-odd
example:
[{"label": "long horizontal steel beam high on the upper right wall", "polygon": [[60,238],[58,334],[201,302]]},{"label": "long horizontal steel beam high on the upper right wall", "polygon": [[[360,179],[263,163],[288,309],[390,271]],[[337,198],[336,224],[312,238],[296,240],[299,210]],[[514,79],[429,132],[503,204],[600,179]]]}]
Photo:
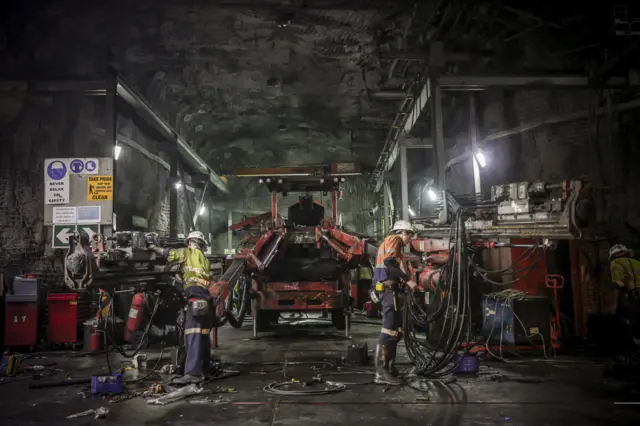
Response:
[{"label": "long horizontal steel beam high on the upper right wall", "polygon": [[539,76],[454,76],[440,77],[442,90],[484,90],[490,87],[514,88],[588,88],[588,87],[626,87],[638,86],[628,78],[613,77],[604,82],[592,81],[580,75],[539,75]]}]

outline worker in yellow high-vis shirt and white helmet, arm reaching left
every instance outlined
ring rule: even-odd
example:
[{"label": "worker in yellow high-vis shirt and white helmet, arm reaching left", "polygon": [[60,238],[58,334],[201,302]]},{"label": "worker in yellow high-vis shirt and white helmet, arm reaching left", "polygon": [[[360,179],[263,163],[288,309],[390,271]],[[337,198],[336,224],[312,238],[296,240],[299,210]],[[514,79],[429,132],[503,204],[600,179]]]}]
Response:
[{"label": "worker in yellow high-vis shirt and white helmet, arm reaching left", "polygon": [[[148,234],[150,235],[150,234]],[[162,248],[148,238],[149,249],[163,256],[168,262],[180,265],[184,293],[188,307],[184,321],[184,338],[187,357],[184,376],[173,381],[176,385],[201,382],[211,369],[211,338],[213,327],[213,306],[210,289],[211,267],[204,252],[207,241],[202,232],[191,232],[186,240],[186,248]]]}]

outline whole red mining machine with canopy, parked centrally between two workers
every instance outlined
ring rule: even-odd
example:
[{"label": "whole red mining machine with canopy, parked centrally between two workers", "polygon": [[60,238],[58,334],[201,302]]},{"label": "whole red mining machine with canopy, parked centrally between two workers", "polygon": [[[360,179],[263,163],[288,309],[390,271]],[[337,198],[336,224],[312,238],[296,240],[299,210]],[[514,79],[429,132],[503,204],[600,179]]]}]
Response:
[{"label": "whole red mining machine with canopy, parked centrally between two workers", "polygon": [[[225,307],[232,326],[240,327],[250,304],[254,336],[277,323],[282,312],[311,311],[331,314],[333,325],[348,336],[351,307],[363,294],[350,272],[370,267],[368,255],[375,255],[365,238],[338,224],[341,185],[360,174],[354,163],[236,171],[266,185],[271,212],[230,227],[248,232],[220,281],[229,290]],[[285,219],[278,213],[278,194],[290,193],[303,195],[289,206]],[[324,206],[311,193],[331,197],[331,216],[325,217]]]}]

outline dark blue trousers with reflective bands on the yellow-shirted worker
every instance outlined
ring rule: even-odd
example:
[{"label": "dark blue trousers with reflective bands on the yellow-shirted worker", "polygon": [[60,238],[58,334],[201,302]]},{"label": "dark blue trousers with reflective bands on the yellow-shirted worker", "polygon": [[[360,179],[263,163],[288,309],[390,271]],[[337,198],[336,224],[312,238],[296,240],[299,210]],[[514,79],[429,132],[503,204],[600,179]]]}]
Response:
[{"label": "dark blue trousers with reflective bands on the yellow-shirted worker", "polygon": [[[185,290],[187,300],[210,300],[206,289],[199,286],[187,287]],[[184,344],[187,350],[187,359],[184,364],[184,374],[191,376],[206,376],[211,371],[211,327],[213,325],[213,312],[210,310],[205,316],[194,317],[191,309],[187,308],[184,321]]]}]

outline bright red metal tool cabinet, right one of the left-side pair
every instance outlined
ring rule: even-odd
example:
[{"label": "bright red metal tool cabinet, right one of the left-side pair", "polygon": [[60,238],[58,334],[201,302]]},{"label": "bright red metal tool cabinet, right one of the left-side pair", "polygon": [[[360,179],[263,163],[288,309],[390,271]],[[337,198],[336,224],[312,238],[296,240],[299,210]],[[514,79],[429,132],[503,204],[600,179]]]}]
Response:
[{"label": "bright red metal tool cabinet, right one of the left-side pair", "polygon": [[49,294],[49,343],[77,343],[82,340],[82,323],[90,314],[86,299],[79,293]]}]

